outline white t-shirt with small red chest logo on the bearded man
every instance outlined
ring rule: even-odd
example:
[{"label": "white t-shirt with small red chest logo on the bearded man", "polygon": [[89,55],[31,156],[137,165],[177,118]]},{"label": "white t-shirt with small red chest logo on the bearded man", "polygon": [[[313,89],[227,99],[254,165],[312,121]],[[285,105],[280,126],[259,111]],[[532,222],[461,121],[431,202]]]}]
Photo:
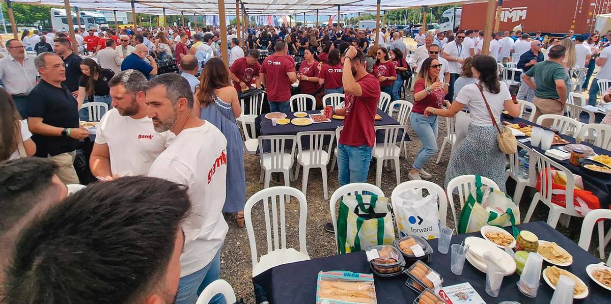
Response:
[{"label": "white t-shirt with small red chest logo on the bearded man", "polygon": [[119,176],[146,175],[172,139],[170,131],[155,132],[151,118],[121,116],[117,109],[109,110],[95,131],[95,143],[108,145],[111,172]]}]

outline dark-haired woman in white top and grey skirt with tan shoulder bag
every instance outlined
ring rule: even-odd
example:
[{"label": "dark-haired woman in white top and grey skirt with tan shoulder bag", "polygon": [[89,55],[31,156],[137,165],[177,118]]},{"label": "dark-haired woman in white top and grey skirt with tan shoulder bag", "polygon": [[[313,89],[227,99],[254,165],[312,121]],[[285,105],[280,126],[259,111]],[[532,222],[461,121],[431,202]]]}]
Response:
[{"label": "dark-haired woman in white top and grey skirt with tan shoulder bag", "polygon": [[505,154],[499,150],[497,129],[492,124],[492,118],[482,98],[480,88],[501,129],[503,128],[500,122],[502,110],[505,109],[509,115],[518,117],[520,107],[511,100],[507,84],[499,81],[497,62],[494,58],[475,56],[471,65],[473,76],[478,79],[478,82],[465,85],[456,96],[450,109],[427,107],[425,115],[453,117],[468,105],[471,115],[469,131],[450,158],[450,163],[445,171],[445,186],[456,176],[474,174],[492,179],[504,192]]}]

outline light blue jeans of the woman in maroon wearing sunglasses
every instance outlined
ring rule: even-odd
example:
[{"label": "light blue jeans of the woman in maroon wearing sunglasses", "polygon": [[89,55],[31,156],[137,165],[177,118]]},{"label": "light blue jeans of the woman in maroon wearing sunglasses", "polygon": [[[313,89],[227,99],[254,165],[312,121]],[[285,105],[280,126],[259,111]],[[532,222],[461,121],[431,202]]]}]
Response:
[{"label": "light blue jeans of the woman in maroon wearing sunglasses", "polygon": [[414,159],[414,169],[420,170],[424,167],[433,155],[437,153],[437,115],[429,115],[425,118],[424,115],[412,112],[411,115],[412,129],[422,142],[422,148],[418,151]]}]

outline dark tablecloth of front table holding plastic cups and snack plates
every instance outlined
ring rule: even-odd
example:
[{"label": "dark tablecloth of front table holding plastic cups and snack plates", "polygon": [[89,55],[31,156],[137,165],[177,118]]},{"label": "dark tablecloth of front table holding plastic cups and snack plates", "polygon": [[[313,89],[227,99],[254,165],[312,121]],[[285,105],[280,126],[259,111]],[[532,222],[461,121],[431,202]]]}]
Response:
[{"label": "dark tablecloth of front table holding plastic cups and snack plates", "polygon": [[[539,239],[554,241],[573,255],[573,264],[563,269],[574,273],[581,278],[590,288],[590,294],[584,300],[575,300],[575,303],[609,303],[611,294],[606,289],[594,283],[585,272],[588,264],[600,262],[590,253],[586,252],[573,241],[560,234],[544,222],[533,222],[518,225],[521,230],[529,230],[535,233]],[[509,231],[509,230],[508,230]],[[460,234],[452,237],[452,244],[460,244],[467,236],[480,236],[477,233]],[[450,255],[442,255],[437,252],[437,240],[429,241],[434,248],[433,258],[429,266],[439,272],[444,278],[442,286],[469,282],[486,303],[499,303],[504,300],[514,300],[523,304],[527,303],[549,303],[554,294],[541,277],[540,287],[535,299],[522,295],[518,291],[516,283],[519,275],[514,273],[503,278],[499,297],[492,298],[486,294],[486,273],[475,269],[469,261],[465,261],[463,274],[454,275],[450,271]],[[329,244],[332,246],[332,244]],[[543,269],[549,266],[543,262]],[[311,259],[309,261],[295,262],[280,265],[252,278],[254,284],[265,290],[269,303],[314,303],[316,299],[316,278],[321,270],[348,270],[352,272],[371,273],[365,252],[349,253],[347,255],[329,256],[327,258]],[[392,278],[375,277],[376,295],[378,303],[412,303],[418,296],[416,292],[405,286],[407,275],[399,275]]]}]

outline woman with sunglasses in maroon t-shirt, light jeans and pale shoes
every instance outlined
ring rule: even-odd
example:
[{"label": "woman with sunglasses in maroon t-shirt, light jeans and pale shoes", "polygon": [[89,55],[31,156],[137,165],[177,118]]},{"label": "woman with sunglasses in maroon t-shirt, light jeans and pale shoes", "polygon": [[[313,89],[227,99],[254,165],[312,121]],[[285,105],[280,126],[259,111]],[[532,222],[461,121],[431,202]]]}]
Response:
[{"label": "woman with sunglasses in maroon t-shirt, light jeans and pale shoes", "polygon": [[439,121],[437,115],[426,116],[426,109],[441,109],[450,103],[444,100],[448,93],[447,86],[439,80],[442,64],[433,57],[428,57],[422,62],[420,72],[416,76],[414,84],[414,109],[410,121],[412,129],[422,142],[422,148],[414,159],[412,169],[408,178],[412,180],[430,179],[433,177],[424,170],[424,165],[433,155],[437,153],[437,126]]}]

